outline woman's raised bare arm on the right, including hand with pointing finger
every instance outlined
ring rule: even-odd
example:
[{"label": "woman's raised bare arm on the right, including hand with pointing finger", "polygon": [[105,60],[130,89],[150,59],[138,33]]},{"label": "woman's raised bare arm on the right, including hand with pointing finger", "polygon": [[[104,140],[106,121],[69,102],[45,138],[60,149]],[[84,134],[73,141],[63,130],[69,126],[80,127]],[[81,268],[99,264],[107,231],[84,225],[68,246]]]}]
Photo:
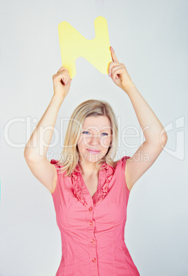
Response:
[{"label": "woman's raised bare arm on the right, including hand with pointing finger", "polygon": [[112,48],[111,56],[113,62],[109,65],[109,76],[129,96],[146,139],[133,157],[126,161],[126,185],[131,191],[134,183],[159,157],[167,143],[167,134],[155,113],[139,93],[137,87],[135,87],[124,64],[118,62],[118,58]]}]

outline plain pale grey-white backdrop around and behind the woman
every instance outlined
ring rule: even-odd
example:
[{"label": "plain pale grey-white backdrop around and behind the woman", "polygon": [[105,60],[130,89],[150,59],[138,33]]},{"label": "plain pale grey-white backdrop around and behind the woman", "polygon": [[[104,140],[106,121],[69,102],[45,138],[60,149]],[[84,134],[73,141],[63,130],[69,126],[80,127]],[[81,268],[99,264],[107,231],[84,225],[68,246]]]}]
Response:
[{"label": "plain pale grey-white backdrop around and behind the woman", "polygon": [[[165,149],[131,189],[126,246],[141,276],[188,275],[187,5],[187,0],[1,2],[1,276],[55,276],[59,266],[53,199],[27,167],[23,151],[53,96],[52,76],[62,67],[57,26],[68,21],[93,39],[98,16],[107,20],[118,60],[168,130]],[[77,58],[76,67],[49,160],[62,152],[60,119],[89,99],[111,104],[120,127],[119,157],[131,156],[142,132],[129,97],[85,58]],[[124,139],[127,126],[139,137],[131,130],[133,137]],[[62,143],[65,131],[66,125]]]}]

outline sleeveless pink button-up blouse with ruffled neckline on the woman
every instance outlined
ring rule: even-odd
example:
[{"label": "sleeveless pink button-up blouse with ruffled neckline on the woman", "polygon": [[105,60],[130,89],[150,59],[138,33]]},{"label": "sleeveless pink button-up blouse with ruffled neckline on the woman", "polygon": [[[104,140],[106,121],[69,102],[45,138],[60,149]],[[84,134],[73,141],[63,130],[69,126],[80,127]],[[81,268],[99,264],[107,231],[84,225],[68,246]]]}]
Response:
[{"label": "sleeveless pink button-up blouse with ruffled neckline on the woman", "polygon": [[[72,175],[58,174],[53,196],[56,220],[62,237],[62,260],[56,276],[137,276],[139,272],[124,243],[129,189],[125,180],[126,160],[113,168],[103,163],[97,191],[92,197],[79,165]],[[106,167],[106,168],[105,168]]]}]

